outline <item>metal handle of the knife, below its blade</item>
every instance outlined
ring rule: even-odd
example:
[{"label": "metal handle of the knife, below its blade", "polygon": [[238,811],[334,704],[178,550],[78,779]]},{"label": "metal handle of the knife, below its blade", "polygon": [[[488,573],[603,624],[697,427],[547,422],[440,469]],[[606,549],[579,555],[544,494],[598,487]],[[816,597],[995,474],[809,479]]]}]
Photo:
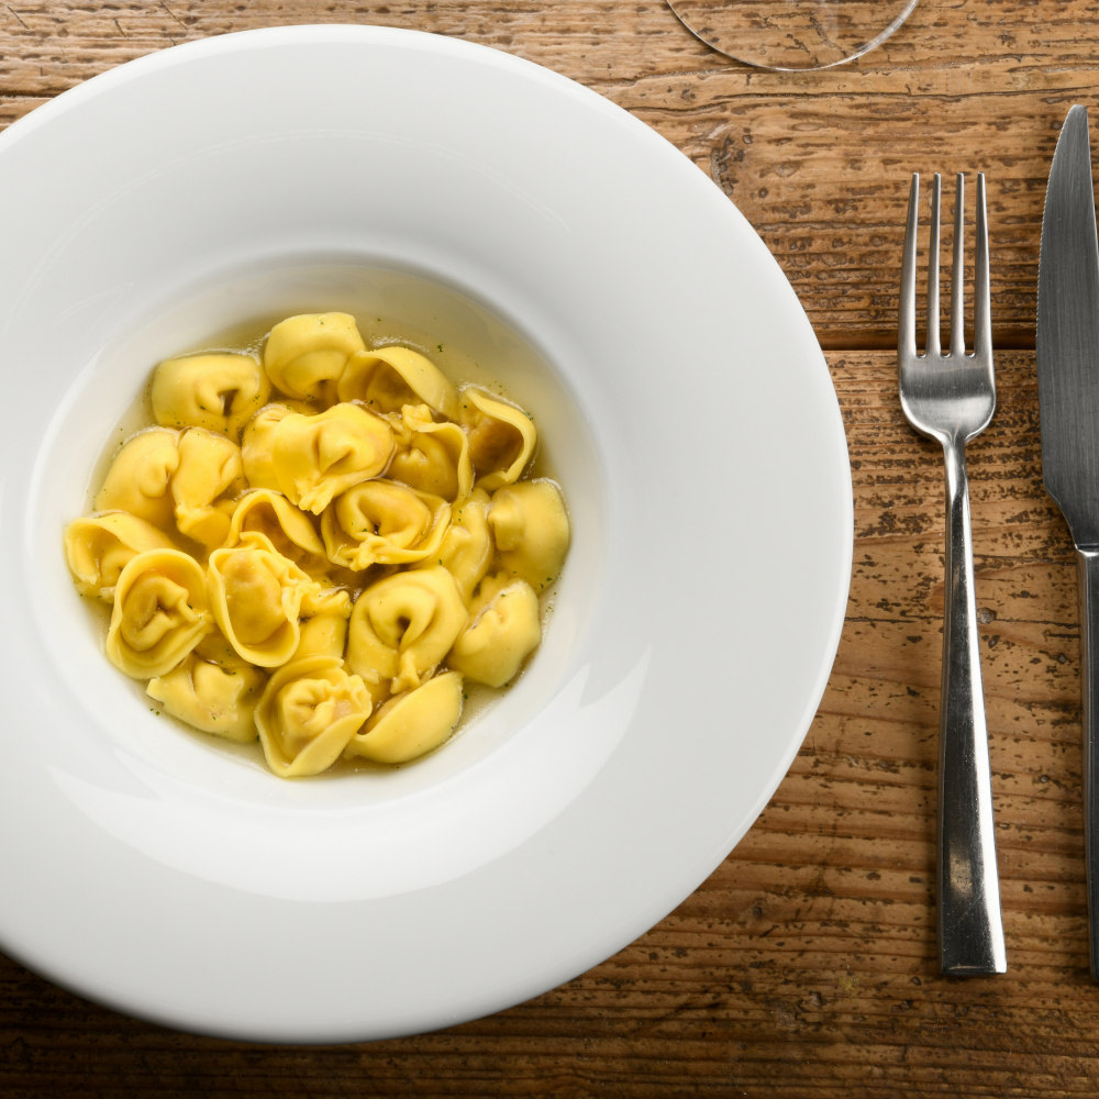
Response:
[{"label": "metal handle of the knife, below its blade", "polygon": [[1099,548],[1077,548],[1084,678],[1084,858],[1091,976],[1099,980]]}]

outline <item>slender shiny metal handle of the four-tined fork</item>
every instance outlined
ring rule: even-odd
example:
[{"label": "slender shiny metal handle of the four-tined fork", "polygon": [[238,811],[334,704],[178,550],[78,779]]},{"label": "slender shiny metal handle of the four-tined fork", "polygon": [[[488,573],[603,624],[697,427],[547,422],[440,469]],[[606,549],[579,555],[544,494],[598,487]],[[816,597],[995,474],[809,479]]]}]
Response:
[{"label": "slender shiny metal handle of the four-tined fork", "polygon": [[946,599],[939,728],[939,961],[943,974],[1003,973],[988,732],[980,678],[965,451],[946,456]]}]

